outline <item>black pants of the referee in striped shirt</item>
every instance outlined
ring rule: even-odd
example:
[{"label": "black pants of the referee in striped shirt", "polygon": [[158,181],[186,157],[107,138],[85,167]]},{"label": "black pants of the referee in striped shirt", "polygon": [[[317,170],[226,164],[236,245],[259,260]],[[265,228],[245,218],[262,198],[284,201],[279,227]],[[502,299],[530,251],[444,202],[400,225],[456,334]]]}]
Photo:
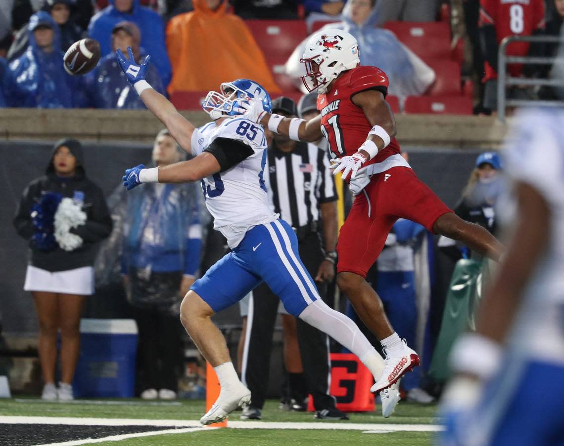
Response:
[{"label": "black pants of the referee in striped shirt", "polygon": [[[319,234],[311,232],[298,239],[299,256],[312,278],[315,278],[323,260]],[[327,286],[315,282],[319,295],[325,300]],[[241,378],[251,391],[252,407],[262,409],[265,404],[272,351],[272,336],[279,298],[265,283],[253,290],[249,302],[246,327],[246,347],[243,352]],[[307,391],[313,396],[316,411],[335,407],[335,399],[329,395],[329,351],[327,334],[297,318],[299,353]]]}]

